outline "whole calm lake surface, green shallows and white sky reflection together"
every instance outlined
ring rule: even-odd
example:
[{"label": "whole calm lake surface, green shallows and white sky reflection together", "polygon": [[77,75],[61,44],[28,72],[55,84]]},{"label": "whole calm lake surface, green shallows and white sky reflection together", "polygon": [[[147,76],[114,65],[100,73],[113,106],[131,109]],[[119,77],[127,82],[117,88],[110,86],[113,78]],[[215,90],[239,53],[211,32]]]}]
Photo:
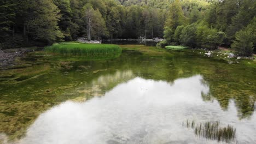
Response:
[{"label": "whole calm lake surface, green shallows and white sky reflection together", "polygon": [[2,70],[0,139],[224,143],[195,136],[183,127],[189,119],[232,125],[231,143],[256,142],[255,68],[190,52],[122,47],[120,57],[94,61],[32,53],[19,61],[24,67]]}]

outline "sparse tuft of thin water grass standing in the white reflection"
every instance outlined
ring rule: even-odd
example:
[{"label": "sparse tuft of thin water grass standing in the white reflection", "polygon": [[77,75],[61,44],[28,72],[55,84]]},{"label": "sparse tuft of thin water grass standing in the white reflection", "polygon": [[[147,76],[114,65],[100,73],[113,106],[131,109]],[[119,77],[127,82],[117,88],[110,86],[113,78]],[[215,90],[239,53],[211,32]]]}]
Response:
[{"label": "sparse tuft of thin water grass standing in the white reflection", "polygon": [[[184,123],[183,123],[184,125]],[[194,129],[194,133],[197,136],[205,137],[210,140],[218,140],[230,142],[234,140],[236,137],[236,129],[232,127],[232,125],[226,127],[220,127],[220,122],[205,122],[205,123],[197,123],[195,126],[195,121],[193,120],[191,123],[187,119],[187,128]]]}]

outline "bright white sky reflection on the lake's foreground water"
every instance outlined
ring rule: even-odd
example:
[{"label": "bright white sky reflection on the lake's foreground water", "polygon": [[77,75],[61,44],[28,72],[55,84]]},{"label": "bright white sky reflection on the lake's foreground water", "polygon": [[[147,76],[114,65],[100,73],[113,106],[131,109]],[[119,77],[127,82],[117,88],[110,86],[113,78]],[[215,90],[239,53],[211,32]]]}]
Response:
[{"label": "bright white sky reflection on the lake's foreground water", "polygon": [[203,101],[210,88],[202,80],[201,75],[173,83],[136,77],[103,97],[66,101],[42,113],[20,143],[219,143],[182,127],[187,119],[231,124],[239,143],[256,143],[255,112],[239,120],[234,101],[227,111],[216,100]]}]

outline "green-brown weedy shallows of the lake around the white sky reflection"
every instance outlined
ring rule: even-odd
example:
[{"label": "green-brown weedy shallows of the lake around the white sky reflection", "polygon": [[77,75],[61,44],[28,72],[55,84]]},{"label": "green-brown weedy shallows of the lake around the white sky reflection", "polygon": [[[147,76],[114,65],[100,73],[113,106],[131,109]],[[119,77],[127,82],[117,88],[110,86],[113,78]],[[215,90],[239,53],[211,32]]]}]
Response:
[{"label": "green-brown weedy shallows of the lake around the white sky reflection", "polygon": [[133,77],[172,83],[200,74],[211,91],[207,95],[209,99],[203,100],[215,99],[223,110],[228,110],[225,107],[234,100],[235,117],[249,119],[253,116],[255,85],[247,83],[256,83],[255,68],[153,46],[120,47],[122,55],[108,61],[32,52],[19,58],[24,67],[0,71],[0,133],[7,134],[9,139],[18,139],[44,110],[68,99],[84,100],[103,95]]}]

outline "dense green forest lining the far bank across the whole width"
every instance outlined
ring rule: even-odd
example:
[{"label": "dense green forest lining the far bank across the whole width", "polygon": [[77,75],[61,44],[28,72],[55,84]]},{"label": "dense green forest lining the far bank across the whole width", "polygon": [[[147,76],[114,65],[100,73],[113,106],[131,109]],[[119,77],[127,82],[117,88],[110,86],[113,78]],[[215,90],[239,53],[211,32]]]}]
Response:
[{"label": "dense green forest lining the far bank across the whole width", "polygon": [[1,48],[91,39],[165,38],[174,44],[251,55],[255,0],[2,0]]}]

